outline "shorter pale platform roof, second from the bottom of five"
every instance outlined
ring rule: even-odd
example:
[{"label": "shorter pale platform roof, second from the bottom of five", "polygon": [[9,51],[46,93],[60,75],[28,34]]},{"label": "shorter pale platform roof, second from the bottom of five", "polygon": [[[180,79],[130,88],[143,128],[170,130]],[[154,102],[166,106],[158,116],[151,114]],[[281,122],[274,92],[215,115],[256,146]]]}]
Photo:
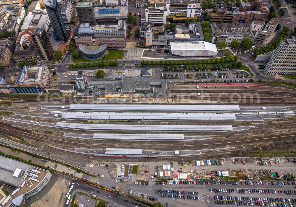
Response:
[{"label": "shorter pale platform roof, second from the bottom of five", "polygon": [[182,140],[183,134],[105,134],[94,133],[94,139]]}]

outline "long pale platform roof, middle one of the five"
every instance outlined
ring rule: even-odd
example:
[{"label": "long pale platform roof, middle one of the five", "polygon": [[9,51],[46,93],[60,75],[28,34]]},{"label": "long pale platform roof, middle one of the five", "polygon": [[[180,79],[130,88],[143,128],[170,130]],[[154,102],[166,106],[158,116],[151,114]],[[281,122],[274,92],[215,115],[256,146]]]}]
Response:
[{"label": "long pale platform roof, middle one of the five", "polygon": [[231,125],[141,125],[141,124],[81,124],[57,122],[56,127],[88,130],[136,130],[136,131],[229,131]]}]

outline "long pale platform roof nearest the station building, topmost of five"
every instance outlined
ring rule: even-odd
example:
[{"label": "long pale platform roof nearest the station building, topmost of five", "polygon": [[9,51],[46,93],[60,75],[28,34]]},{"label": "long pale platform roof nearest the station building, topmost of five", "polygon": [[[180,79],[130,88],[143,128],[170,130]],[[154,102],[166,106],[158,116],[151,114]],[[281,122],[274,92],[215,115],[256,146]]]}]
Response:
[{"label": "long pale platform roof nearest the station building, topmost of five", "polygon": [[81,110],[239,110],[239,105],[177,105],[177,104],[71,104],[70,109]]}]

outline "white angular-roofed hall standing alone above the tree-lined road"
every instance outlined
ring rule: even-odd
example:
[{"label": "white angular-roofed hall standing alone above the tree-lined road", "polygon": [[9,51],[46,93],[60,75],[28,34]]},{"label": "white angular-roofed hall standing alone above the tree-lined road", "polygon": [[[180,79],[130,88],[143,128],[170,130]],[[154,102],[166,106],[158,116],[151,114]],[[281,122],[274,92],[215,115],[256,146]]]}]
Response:
[{"label": "white angular-roofed hall standing alone above the tree-lined road", "polygon": [[171,42],[173,57],[214,57],[218,54],[215,44],[208,42]]}]

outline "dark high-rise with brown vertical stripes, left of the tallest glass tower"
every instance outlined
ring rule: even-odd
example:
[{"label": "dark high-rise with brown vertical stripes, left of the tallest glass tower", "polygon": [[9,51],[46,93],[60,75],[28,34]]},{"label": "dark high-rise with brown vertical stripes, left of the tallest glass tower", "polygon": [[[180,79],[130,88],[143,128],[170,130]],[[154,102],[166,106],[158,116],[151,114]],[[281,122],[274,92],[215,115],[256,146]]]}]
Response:
[{"label": "dark high-rise with brown vertical stripes, left of the tallest glass tower", "polygon": [[38,49],[39,55],[44,61],[51,61],[54,55],[54,50],[49,42],[44,28],[36,28],[32,34],[32,39]]}]

